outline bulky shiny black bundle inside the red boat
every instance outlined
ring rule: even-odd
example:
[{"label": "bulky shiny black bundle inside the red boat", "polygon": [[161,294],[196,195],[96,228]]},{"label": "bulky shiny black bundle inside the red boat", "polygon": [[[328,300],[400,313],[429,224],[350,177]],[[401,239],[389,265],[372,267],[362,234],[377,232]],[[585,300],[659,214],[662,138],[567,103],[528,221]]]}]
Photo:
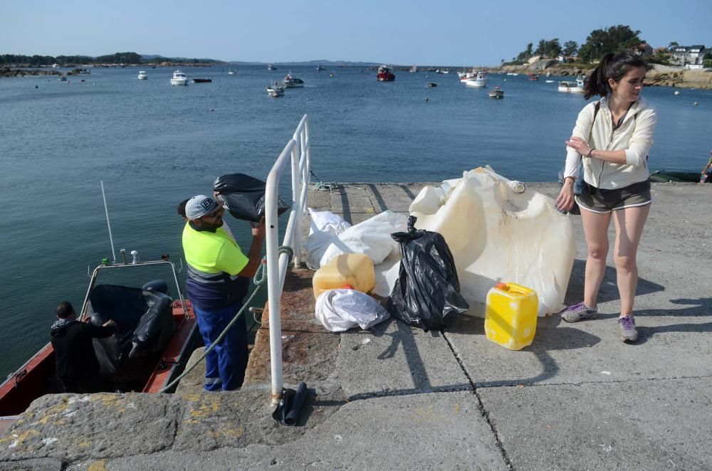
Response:
[{"label": "bulky shiny black bundle inside the red boat", "polygon": [[89,295],[91,322],[117,323],[114,334],[93,339],[102,376],[130,380],[142,361],[155,362],[175,332],[172,299],[158,291],[97,285]]}]

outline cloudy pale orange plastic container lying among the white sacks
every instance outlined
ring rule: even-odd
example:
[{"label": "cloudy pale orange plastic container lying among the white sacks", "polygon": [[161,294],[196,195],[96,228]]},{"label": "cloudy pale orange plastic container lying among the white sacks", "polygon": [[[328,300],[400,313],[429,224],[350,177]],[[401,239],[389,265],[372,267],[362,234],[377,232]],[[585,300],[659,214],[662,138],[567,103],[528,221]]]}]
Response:
[{"label": "cloudy pale orange plastic container lying among the white sacks", "polygon": [[332,258],[316,270],[312,280],[314,298],[325,290],[352,290],[369,292],[376,285],[373,260],[364,253],[343,253]]}]

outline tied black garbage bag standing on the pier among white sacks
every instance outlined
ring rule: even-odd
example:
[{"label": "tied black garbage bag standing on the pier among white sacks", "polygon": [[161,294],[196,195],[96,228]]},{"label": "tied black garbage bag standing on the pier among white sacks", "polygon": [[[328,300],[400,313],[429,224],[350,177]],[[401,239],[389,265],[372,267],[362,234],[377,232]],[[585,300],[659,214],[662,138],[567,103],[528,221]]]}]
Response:
[{"label": "tied black garbage bag standing on the pier among white sacks", "polygon": [[408,232],[392,233],[400,244],[398,280],[386,309],[396,319],[425,332],[450,327],[470,306],[460,295],[460,282],[450,248],[442,235],[415,228],[408,218]]}]

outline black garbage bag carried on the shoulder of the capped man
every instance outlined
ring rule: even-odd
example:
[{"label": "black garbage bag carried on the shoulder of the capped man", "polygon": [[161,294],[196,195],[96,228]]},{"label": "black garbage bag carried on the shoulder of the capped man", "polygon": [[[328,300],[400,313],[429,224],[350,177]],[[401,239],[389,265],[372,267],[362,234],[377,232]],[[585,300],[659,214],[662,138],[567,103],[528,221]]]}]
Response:
[{"label": "black garbage bag carried on the shoulder of the capped man", "polygon": [[[213,189],[219,191],[218,199],[225,203],[229,213],[238,219],[256,223],[265,215],[264,181],[246,174],[229,174],[219,176],[213,184]],[[279,198],[277,214],[289,209],[289,204]]]}]

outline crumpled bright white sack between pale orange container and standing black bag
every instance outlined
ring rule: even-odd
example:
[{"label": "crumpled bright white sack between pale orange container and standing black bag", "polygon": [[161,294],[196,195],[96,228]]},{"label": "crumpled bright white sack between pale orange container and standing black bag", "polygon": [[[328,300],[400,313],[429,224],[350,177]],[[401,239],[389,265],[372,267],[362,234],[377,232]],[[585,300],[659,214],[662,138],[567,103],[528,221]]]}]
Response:
[{"label": "crumpled bright white sack between pale orange container and standing black bag", "polygon": [[342,253],[365,253],[370,256],[374,265],[378,265],[388,255],[399,250],[398,243],[393,240],[391,234],[407,231],[407,227],[407,215],[383,211],[332,238],[321,256],[319,266],[323,267]]}]

